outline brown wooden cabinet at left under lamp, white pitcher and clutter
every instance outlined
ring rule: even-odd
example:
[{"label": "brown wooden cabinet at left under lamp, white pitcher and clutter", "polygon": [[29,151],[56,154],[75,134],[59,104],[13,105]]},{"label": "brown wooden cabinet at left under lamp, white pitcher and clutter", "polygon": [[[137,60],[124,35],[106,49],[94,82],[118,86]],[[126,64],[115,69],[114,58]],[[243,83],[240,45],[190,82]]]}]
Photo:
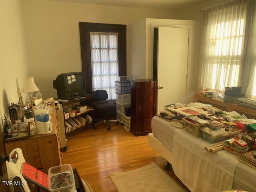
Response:
[{"label": "brown wooden cabinet at left under lamp, white pitcher and clutter", "polygon": [[48,174],[48,169],[61,164],[60,129],[55,107],[52,107],[52,132],[47,135],[36,134],[28,139],[4,142],[6,154],[15,148],[20,148],[29,164]]}]

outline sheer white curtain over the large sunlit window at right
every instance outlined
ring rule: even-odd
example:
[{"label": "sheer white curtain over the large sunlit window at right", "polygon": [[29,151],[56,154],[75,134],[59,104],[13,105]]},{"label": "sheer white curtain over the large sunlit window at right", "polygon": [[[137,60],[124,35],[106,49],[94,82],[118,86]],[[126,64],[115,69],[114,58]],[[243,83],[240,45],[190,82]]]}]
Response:
[{"label": "sheer white curtain over the large sunlit window at right", "polygon": [[247,1],[236,0],[203,11],[201,88],[223,91],[240,85]]}]

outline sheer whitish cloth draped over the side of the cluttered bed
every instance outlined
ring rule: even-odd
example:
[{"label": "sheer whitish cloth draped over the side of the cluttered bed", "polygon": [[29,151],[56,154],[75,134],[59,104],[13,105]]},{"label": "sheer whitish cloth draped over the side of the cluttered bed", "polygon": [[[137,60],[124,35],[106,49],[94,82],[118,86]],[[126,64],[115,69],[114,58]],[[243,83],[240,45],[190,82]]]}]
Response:
[{"label": "sheer whitish cloth draped over the side of the cluttered bed", "polygon": [[209,145],[185,130],[176,129],[172,147],[174,173],[192,192],[231,190],[237,156],[224,150],[210,153],[202,150]]}]

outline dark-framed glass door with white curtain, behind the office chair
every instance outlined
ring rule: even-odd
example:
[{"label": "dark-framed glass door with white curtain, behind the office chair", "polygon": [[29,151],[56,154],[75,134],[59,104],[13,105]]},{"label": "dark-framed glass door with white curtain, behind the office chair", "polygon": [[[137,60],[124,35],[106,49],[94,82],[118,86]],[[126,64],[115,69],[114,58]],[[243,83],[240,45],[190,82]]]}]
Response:
[{"label": "dark-framed glass door with white curtain, behind the office chair", "polygon": [[115,99],[116,76],[126,75],[126,25],[79,22],[86,92],[106,90]]}]

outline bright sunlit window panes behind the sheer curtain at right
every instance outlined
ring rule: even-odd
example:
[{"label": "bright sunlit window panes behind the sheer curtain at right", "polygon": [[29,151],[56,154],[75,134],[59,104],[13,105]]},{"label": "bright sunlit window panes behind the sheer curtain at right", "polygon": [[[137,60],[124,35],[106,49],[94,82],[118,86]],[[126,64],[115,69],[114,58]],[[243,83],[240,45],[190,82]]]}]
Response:
[{"label": "bright sunlit window panes behind the sheer curtain at right", "polygon": [[211,26],[209,39],[207,88],[224,90],[238,86],[242,57],[244,20],[222,22]]}]

